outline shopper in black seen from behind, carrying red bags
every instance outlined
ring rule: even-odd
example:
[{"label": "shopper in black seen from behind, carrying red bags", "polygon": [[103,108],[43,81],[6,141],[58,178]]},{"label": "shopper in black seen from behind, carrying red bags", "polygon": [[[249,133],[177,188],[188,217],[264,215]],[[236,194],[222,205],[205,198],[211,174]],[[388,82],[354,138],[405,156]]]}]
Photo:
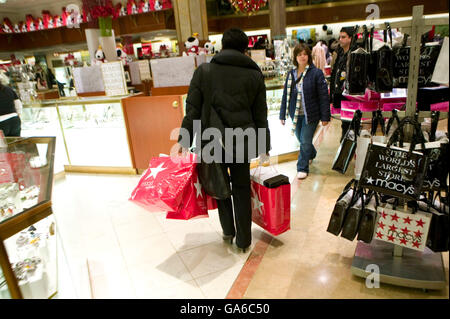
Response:
[{"label": "shopper in black seen from behind, carrying red bags", "polygon": [[[217,201],[223,239],[232,242],[236,236],[236,245],[243,251],[248,249],[252,240],[250,160],[258,155],[267,159],[270,150],[264,77],[258,65],[244,54],[247,48],[246,34],[240,29],[229,29],[222,38],[222,51],[211,63],[204,63],[196,69],[178,139],[181,152],[182,148],[188,149],[193,144],[194,133],[197,137],[202,136],[205,129],[211,127],[221,129],[222,133],[223,129],[242,129],[245,132],[249,129],[255,134],[256,139],[250,134],[243,143],[238,138],[229,139],[232,147],[227,147],[227,134],[225,142],[222,142],[222,146],[225,145],[222,165],[224,171],[229,169],[233,197],[233,203],[231,198]],[[215,111],[219,120],[206,119],[206,108]],[[195,120],[201,120],[201,131],[194,129]],[[187,138],[183,137],[183,132]],[[199,144],[196,142],[196,145]],[[205,146],[204,140],[201,145],[202,148]],[[204,159],[206,154],[202,155]],[[220,158],[214,160],[219,162]]]}]

